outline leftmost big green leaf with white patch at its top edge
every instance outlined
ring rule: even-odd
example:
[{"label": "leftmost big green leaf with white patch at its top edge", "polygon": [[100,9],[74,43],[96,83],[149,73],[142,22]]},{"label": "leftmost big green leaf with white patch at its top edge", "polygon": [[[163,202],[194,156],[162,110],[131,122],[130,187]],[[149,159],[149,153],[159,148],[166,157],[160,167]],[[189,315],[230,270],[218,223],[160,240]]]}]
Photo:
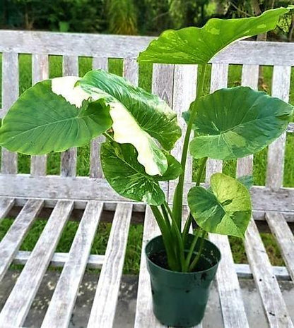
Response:
[{"label": "leftmost big green leaf with white patch at its top edge", "polygon": [[[65,78],[63,83],[73,86],[76,78]],[[76,92],[83,90],[78,87]],[[45,80],[26,90],[8,111],[0,128],[0,144],[24,154],[86,145],[112,126],[109,111],[102,99],[77,103],[72,97],[67,102],[52,91],[52,80]]]}]

